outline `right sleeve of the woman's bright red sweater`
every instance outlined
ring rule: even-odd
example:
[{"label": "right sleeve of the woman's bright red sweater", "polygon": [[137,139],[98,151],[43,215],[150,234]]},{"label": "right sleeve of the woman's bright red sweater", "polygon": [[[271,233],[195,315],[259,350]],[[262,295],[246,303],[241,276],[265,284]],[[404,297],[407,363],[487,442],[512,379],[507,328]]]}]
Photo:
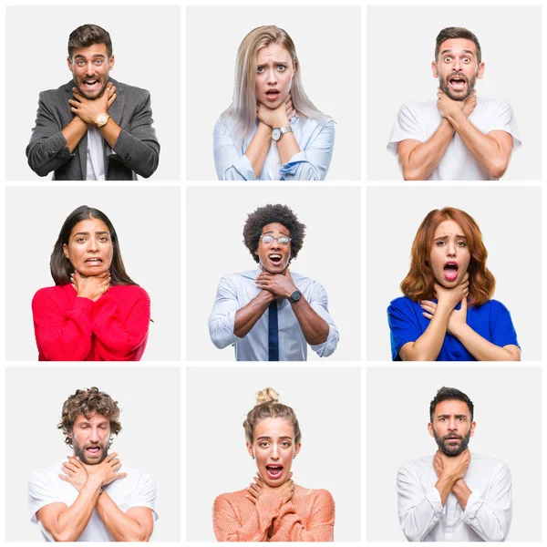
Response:
[{"label": "right sleeve of the woman's bright red sweater", "polygon": [[105,361],[139,360],[148,338],[150,296],[133,285],[117,289],[95,303],[92,329],[98,353]]}]

